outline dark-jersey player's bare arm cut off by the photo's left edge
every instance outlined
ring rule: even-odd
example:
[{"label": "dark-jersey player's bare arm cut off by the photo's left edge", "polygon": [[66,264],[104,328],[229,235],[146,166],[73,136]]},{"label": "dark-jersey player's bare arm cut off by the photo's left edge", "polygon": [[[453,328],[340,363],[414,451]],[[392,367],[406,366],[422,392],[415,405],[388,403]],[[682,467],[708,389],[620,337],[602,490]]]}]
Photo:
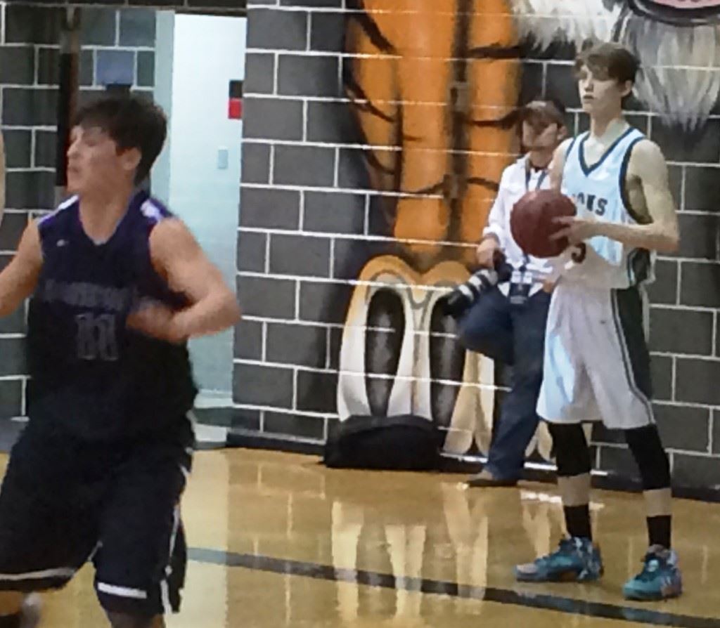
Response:
[{"label": "dark-jersey player's bare arm cut off by the photo's left edge", "polygon": [[41,269],[40,232],[33,221],[25,227],[14,258],[0,273],[0,317],[12,314],[35,291]]}]

